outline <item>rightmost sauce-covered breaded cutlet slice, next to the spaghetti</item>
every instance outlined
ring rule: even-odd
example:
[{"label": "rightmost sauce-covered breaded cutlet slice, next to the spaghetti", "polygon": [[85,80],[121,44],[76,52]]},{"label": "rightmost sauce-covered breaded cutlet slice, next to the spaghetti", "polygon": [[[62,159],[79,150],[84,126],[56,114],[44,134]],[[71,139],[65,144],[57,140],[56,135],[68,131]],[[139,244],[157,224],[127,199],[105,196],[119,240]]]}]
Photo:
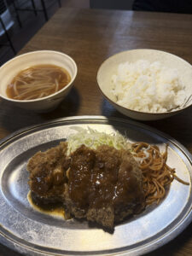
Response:
[{"label": "rightmost sauce-covered breaded cutlet slice, next to the spaghetti", "polygon": [[114,221],[119,223],[126,217],[141,212],[145,207],[143,174],[131,153],[121,151],[118,180],[113,196]]}]

